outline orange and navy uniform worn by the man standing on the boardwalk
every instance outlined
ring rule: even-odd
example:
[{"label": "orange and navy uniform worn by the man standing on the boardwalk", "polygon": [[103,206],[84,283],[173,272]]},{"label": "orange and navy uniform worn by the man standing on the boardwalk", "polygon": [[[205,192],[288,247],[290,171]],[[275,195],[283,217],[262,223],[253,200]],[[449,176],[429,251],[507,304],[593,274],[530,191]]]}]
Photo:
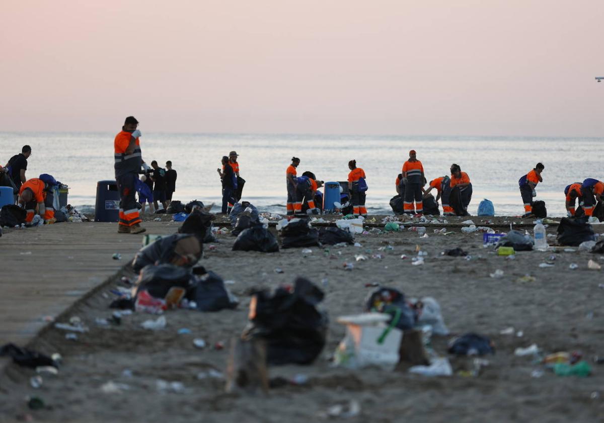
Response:
[{"label": "orange and navy uniform worn by the man standing on the boardwalk", "polygon": [[120,191],[120,225],[124,226],[132,226],[141,222],[135,194],[138,171],[143,165],[143,155],[138,137],[135,140],[134,151],[130,154],[126,153],[131,138],[131,132],[121,131],[115,136],[114,141],[115,181]]}]

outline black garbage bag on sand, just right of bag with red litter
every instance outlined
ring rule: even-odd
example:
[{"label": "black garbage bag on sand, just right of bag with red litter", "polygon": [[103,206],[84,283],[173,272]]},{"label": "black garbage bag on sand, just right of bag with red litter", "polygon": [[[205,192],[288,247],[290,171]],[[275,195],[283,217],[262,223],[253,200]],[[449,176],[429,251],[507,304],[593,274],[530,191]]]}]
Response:
[{"label": "black garbage bag on sand, just right of bag with red litter", "polygon": [[199,311],[219,311],[225,308],[236,308],[239,300],[229,291],[222,277],[208,271],[187,291],[187,299],[197,304]]}]

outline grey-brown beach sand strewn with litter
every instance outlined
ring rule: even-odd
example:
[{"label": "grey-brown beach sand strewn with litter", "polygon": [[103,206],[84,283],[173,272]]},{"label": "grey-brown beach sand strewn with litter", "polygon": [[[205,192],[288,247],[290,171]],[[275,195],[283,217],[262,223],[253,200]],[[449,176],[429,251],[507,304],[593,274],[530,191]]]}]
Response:
[{"label": "grey-brown beach sand strewn with litter", "polygon": [[[472,219],[480,223],[480,219]],[[108,305],[114,296],[108,291],[120,285],[118,274],[59,318],[66,321],[77,315],[90,332],[68,341],[65,332],[47,329],[32,341],[32,347],[47,354],[62,354],[64,364],[58,376],[45,377],[42,388],[36,390],[29,386],[31,370],[12,364],[6,367],[0,379],[0,421],[29,414],[36,421],[308,422],[323,421],[321,412],[351,399],[359,402],[361,413],[339,418],[342,421],[602,421],[602,367],[594,364],[594,374],[588,378],[564,378],[534,364],[530,357],[515,357],[513,352],[516,347],[536,343],[544,352],[580,350],[588,360],[604,355],[602,271],[587,269],[589,259],[604,265],[604,257],[559,248],[557,253],[530,251],[506,260],[482,247],[482,234],[454,231],[444,236],[432,234],[429,228],[427,239],[406,230],[358,235],[356,241],[362,247],[329,247],[329,255],[323,248],[312,247],[307,257],[301,248],[272,254],[231,251],[234,237],[220,235],[220,242],[213,244],[215,249],[206,248],[201,264],[234,281],[228,286],[239,297],[239,308],[214,313],[169,311],[165,313],[167,328],[156,332],[140,327],[142,321],[155,318],[148,314],[124,317],[121,326],[95,325],[95,318],[111,315]],[[548,229],[548,233],[553,231]],[[386,245],[394,249],[378,250]],[[417,245],[428,252],[422,266],[411,264]],[[440,255],[454,247],[468,251],[471,260]],[[356,262],[359,253],[385,257]],[[401,254],[408,258],[400,259]],[[552,255],[554,267],[539,268]],[[353,270],[344,270],[344,262],[353,262]],[[570,270],[570,263],[579,268]],[[284,273],[275,273],[277,267]],[[493,279],[489,274],[497,269],[504,276]],[[127,268],[120,274],[133,276]],[[518,282],[525,274],[535,276],[535,282]],[[308,376],[308,383],[275,388],[264,396],[225,394],[223,379],[199,380],[200,372],[225,370],[228,349],[213,346],[228,343],[246,325],[249,289],[291,283],[298,275],[326,292],[321,306],[331,320],[327,346],[312,365],[271,367],[270,375],[292,378],[302,373]],[[324,279],[327,281],[322,283]],[[452,335],[434,336],[434,349],[447,356],[446,342],[453,335],[478,332],[496,346],[495,355],[484,357],[489,366],[477,377],[455,374],[438,378],[333,367],[329,359],[344,335],[344,327],[335,319],[360,312],[374,289],[365,283],[372,282],[409,296],[430,295],[439,300]],[[509,326],[524,332],[522,337],[501,335]],[[179,335],[181,328],[192,333]],[[193,338],[203,338],[208,347],[196,349]],[[449,358],[456,373],[471,363],[469,358]],[[544,375],[532,377],[537,369],[543,369]],[[184,390],[158,390],[158,379],[179,381]],[[126,384],[128,389],[101,392],[108,381]],[[28,410],[27,395],[42,397],[49,407]]]}]

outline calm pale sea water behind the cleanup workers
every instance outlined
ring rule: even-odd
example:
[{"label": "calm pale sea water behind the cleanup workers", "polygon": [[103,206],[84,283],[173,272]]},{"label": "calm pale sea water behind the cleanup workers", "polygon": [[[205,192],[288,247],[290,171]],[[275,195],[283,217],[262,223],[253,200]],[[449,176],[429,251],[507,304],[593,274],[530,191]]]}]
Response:
[{"label": "calm pale sea water behind the cleanup workers", "polygon": [[[220,158],[230,150],[239,153],[240,175],[246,179],[245,199],[263,210],[285,212],[285,169],[291,157],[300,157],[298,175],[314,172],[324,181],[347,179],[349,160],[367,174],[370,213],[391,213],[388,202],[394,179],[417,150],[426,178],[445,175],[457,163],[470,176],[474,196],[469,211],[488,198],[496,215],[523,213],[518,178],[538,161],[545,164],[544,182],[537,199],[546,202],[551,216],[565,215],[564,187],[585,178],[602,180],[597,153],[604,138],[536,137],[397,137],[347,135],[159,134],[141,137],[143,158],[164,166],[172,160],[178,172],[174,199],[200,199],[219,204]],[[115,132],[117,134],[117,131]],[[70,187],[69,202],[94,205],[96,182],[114,179],[114,133],[0,132],[2,166],[30,144],[28,178],[50,173]]]}]

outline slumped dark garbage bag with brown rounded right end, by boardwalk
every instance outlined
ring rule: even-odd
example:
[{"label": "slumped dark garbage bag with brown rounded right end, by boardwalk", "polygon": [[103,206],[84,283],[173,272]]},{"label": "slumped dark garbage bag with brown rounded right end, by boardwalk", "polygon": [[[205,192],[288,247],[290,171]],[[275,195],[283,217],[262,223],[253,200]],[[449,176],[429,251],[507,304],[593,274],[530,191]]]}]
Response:
[{"label": "slumped dark garbage bag with brown rounded right end, by boardwalk", "polygon": [[141,248],[132,260],[132,268],[139,273],[144,266],[170,263],[190,267],[201,259],[203,244],[193,234],[173,234],[162,237]]}]

